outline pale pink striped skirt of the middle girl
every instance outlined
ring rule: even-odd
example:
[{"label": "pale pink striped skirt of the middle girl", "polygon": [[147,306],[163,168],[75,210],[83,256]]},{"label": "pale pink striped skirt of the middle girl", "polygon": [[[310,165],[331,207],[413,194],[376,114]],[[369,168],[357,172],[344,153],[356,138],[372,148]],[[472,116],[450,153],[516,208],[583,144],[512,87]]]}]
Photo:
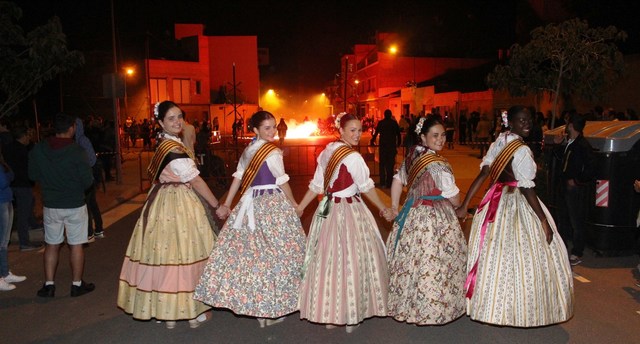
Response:
[{"label": "pale pink striped skirt of the middle girl", "polygon": [[331,201],[327,218],[314,216],[300,288],[300,318],[355,325],[387,316],[389,276],[384,242],[364,202]]}]

